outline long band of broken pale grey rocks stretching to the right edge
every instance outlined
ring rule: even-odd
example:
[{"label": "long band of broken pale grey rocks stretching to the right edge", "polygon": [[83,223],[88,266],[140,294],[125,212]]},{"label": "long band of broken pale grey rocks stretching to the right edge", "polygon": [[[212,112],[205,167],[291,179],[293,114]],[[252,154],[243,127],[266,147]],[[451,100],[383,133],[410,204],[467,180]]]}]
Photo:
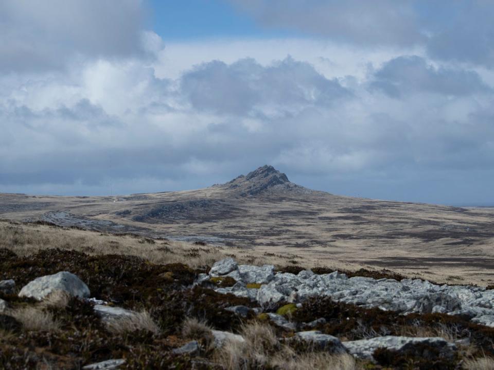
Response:
[{"label": "long band of broken pale grey rocks stretching to the right edge", "polygon": [[[226,261],[220,261],[226,265]],[[217,262],[218,263],[218,262]],[[216,264],[215,264],[216,265]],[[281,302],[302,303],[313,296],[329,296],[334,301],[355,304],[363,308],[408,313],[448,313],[469,316],[474,322],[494,327],[494,290],[475,286],[436,285],[419,279],[373,279],[351,277],[338,271],[316,275],[312,271],[274,273],[274,267],[240,265],[228,259],[229,271],[238,283],[217,292],[248,297],[264,309]],[[233,269],[233,270],[232,270]],[[252,286],[256,281],[257,286]],[[248,284],[251,284],[249,286]]]}]

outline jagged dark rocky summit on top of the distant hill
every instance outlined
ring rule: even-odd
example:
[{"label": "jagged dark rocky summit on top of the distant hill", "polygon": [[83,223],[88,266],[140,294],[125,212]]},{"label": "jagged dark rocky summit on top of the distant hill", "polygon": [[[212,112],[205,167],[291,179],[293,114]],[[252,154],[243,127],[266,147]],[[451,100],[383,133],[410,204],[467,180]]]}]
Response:
[{"label": "jagged dark rocky summit on top of the distant hill", "polygon": [[285,191],[311,191],[303,186],[291,183],[285,173],[270,165],[264,165],[246,175],[240,175],[222,186],[226,189],[235,190],[242,196],[256,196],[260,193]]}]

